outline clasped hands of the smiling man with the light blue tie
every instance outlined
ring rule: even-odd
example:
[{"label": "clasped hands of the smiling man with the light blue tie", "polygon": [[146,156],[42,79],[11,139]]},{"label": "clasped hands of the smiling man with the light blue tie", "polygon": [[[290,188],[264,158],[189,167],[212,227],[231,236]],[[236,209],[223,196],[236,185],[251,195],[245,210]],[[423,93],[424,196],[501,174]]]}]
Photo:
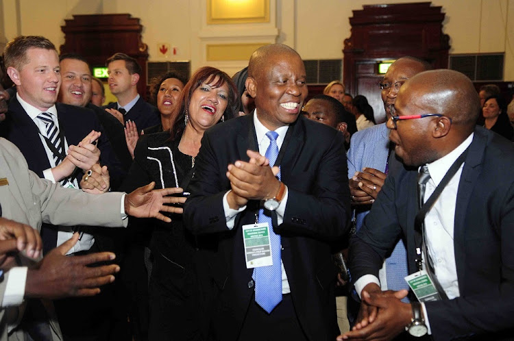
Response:
[{"label": "clasped hands of the smiling man with the light blue tie", "polygon": [[256,151],[248,150],[246,154],[250,158],[248,162],[237,160],[228,165],[226,173],[232,189],[227,201],[233,210],[243,207],[249,200],[273,198],[280,188],[276,178],[279,168],[271,168],[267,157]]}]

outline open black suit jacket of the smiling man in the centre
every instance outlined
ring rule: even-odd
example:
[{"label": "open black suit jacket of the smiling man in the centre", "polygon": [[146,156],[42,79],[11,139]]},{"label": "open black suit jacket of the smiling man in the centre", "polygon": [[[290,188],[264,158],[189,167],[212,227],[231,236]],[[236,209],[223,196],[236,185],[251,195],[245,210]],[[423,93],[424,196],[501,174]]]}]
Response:
[{"label": "open black suit jacket of the smiling man in the centre", "polygon": [[[219,291],[213,326],[219,340],[236,340],[254,293],[252,272],[245,265],[241,225],[252,224],[258,202],[250,201],[229,230],[223,195],[230,189],[228,164],[248,161],[258,151],[253,115],[212,127],[201,140],[184,205],[184,223],[193,233],[216,233],[218,251],[209,266]],[[287,142],[289,140],[289,143]],[[285,149],[284,149],[285,148]],[[328,240],[347,231],[350,191],[343,136],[326,125],[299,116],[282,144],[281,177],[288,188],[283,223],[273,229],[282,237],[282,262],[300,325],[309,340],[334,340],[334,279]]]}]

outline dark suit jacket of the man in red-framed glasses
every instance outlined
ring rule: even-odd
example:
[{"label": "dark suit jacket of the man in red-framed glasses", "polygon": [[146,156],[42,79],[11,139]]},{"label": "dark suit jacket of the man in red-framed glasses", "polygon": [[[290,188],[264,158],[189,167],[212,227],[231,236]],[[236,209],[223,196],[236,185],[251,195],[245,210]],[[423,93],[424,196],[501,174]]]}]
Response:
[{"label": "dark suit jacket of the man in red-framed glasses", "polygon": [[[513,167],[513,144],[477,127],[455,207],[454,248],[461,296],[426,303],[435,340],[512,336],[512,330],[504,330],[514,327]],[[417,211],[417,169],[390,173],[363,227],[350,242],[354,280],[366,274],[378,277],[384,255],[400,237],[406,244],[409,272],[417,271]]]}]

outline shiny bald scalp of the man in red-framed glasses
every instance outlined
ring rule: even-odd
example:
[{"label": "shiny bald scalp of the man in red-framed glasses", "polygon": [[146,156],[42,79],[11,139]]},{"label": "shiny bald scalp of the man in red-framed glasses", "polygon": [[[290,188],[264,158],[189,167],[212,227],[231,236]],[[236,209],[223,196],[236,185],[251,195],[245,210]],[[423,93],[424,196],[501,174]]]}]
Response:
[{"label": "shiny bald scalp of the man in red-framed glasses", "polygon": [[445,69],[426,71],[404,86],[399,96],[402,92],[417,92],[418,105],[452,118],[453,125],[462,125],[467,131],[474,129],[480,100],[472,81],[463,73]]}]

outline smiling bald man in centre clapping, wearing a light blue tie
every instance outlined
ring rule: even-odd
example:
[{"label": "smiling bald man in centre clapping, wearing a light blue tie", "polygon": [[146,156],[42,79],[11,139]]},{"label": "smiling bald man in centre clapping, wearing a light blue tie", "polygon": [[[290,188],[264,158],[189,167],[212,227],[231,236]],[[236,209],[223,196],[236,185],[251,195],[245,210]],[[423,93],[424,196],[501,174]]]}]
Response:
[{"label": "smiling bald man in centre clapping, wearing a light blue tie", "polygon": [[344,138],[299,116],[306,72],[290,47],[255,51],[246,88],[256,110],[206,132],[184,207],[187,227],[219,242],[206,260],[219,290],[214,337],[334,340],[328,240],[350,218]]}]

